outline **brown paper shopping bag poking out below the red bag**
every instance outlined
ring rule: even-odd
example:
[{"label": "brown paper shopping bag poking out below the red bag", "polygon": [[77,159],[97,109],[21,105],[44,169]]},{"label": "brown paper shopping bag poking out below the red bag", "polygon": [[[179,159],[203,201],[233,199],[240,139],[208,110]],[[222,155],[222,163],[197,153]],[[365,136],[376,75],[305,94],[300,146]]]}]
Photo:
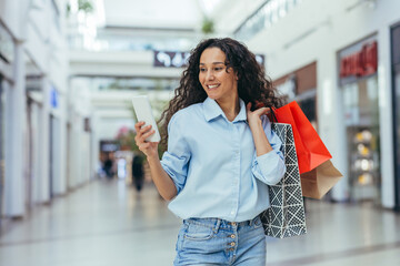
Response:
[{"label": "brown paper shopping bag poking out below the red bag", "polygon": [[323,197],[343,177],[330,160],[300,176],[302,195],[317,200]]}]

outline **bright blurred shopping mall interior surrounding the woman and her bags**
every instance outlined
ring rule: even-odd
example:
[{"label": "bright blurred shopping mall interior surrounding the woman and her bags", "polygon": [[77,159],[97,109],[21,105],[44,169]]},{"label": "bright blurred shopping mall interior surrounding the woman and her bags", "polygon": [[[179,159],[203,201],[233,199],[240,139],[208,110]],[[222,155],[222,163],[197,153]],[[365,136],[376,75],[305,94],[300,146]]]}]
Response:
[{"label": "bright blurred shopping mall interior surrounding the woman and her bags", "polygon": [[297,101],[342,175],[303,198],[307,234],[266,237],[267,265],[400,265],[399,10],[0,0],[0,266],[173,264],[182,219],[136,145],[131,100],[147,95],[160,119],[192,49],[226,37]]}]

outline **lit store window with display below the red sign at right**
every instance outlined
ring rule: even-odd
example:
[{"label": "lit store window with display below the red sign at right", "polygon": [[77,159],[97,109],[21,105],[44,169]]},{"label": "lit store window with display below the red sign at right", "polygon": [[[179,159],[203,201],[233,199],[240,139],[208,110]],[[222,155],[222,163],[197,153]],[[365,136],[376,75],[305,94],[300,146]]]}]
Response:
[{"label": "lit store window with display below the red sign at right", "polygon": [[377,76],[342,88],[350,195],[354,201],[380,198],[379,105]]}]

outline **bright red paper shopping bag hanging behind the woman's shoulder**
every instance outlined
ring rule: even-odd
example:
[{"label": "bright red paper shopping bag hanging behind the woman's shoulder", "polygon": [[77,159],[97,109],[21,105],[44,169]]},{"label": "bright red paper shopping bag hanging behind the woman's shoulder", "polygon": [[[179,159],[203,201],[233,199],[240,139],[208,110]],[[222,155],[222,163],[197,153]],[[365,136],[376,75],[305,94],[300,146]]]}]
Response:
[{"label": "bright red paper shopping bag hanging behind the woman's shoulder", "polygon": [[297,102],[274,110],[274,115],[279,123],[292,125],[300,174],[316,168],[332,157]]}]

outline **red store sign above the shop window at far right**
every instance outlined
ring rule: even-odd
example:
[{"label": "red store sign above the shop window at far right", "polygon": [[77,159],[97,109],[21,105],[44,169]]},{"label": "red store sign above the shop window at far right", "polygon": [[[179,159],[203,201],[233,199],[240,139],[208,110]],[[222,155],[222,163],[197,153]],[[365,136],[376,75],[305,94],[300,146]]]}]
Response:
[{"label": "red store sign above the shop window at far right", "polygon": [[361,50],[340,59],[340,78],[366,76],[377,72],[378,43],[366,43]]}]

